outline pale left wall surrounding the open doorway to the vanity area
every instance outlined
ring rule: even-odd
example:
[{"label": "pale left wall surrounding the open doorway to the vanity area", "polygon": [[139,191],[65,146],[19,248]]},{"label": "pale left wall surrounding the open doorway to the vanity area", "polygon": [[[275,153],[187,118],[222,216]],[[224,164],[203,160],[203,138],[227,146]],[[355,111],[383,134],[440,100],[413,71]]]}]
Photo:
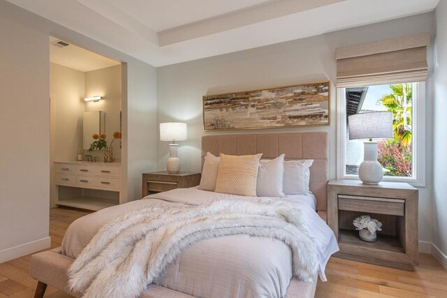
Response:
[{"label": "pale left wall surrounding the open doorway to the vanity area", "polygon": [[[124,199],[128,193],[129,199],[138,198],[141,173],[156,167],[155,68],[0,0],[0,125],[5,140],[0,147],[0,262],[50,244],[50,34],[127,63],[133,82],[123,89],[122,110],[129,115],[126,130],[132,137],[125,136],[123,151],[138,154],[129,155],[129,168],[122,165],[129,185]],[[29,244],[38,239],[43,241]]]}]

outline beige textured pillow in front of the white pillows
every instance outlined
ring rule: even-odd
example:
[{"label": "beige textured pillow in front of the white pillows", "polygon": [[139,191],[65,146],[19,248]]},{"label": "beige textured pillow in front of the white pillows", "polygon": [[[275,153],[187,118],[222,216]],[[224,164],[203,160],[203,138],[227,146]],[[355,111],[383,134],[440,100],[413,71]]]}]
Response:
[{"label": "beige textured pillow in front of the white pillows", "polygon": [[216,193],[256,197],[259,159],[263,154],[233,156],[220,154]]}]

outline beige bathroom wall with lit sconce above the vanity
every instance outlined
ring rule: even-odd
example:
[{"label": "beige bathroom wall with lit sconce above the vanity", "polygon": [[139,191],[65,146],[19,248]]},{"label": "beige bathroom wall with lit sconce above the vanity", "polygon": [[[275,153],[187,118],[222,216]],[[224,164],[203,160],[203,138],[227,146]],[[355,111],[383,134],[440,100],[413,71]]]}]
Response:
[{"label": "beige bathroom wall with lit sconce above the vanity", "polygon": [[[113,140],[113,133],[119,131],[121,111],[121,66],[111,66],[85,73],[85,97],[103,96],[98,102],[85,102],[85,112],[103,111],[105,114],[105,134],[107,143]],[[91,140],[93,141],[93,139]],[[113,158],[121,158],[119,140],[112,144]]]}]

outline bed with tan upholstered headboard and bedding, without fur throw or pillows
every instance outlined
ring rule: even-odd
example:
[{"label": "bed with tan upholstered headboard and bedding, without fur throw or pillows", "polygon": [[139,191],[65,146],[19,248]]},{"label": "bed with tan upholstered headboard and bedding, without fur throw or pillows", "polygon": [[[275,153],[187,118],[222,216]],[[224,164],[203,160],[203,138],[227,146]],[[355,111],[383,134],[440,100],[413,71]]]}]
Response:
[{"label": "bed with tan upholstered headboard and bedding, without fur throw or pillows", "polygon": [[[263,153],[263,158],[276,158],[280,154],[285,154],[286,160],[297,159],[313,159],[314,163],[310,167],[310,191],[313,195],[305,195],[302,198],[286,198],[296,204],[297,208],[305,209],[305,214],[309,216],[309,222],[315,223],[313,228],[324,230],[322,222],[312,207],[316,207],[318,215],[325,218],[326,209],[326,184],[328,181],[328,139],[327,133],[263,133],[263,134],[235,134],[235,135],[206,135],[202,138],[202,157],[205,157],[207,152],[218,155],[219,153],[230,155],[248,155]],[[181,197],[182,200],[197,201],[198,203],[207,200],[219,200],[219,195],[206,191],[200,191],[196,188],[192,189],[177,189],[158,195],[152,195],[146,200],[138,200],[129,202],[116,207],[110,207],[85,216],[86,218],[73,223],[73,227],[67,230],[64,243],[61,248],[56,248],[52,251],[45,251],[37,253],[31,258],[30,273],[33,278],[36,278],[39,283],[36,288],[36,297],[43,297],[46,285],[52,285],[55,288],[64,290],[76,297],[82,297],[80,292],[71,292],[68,288],[67,270],[75,261],[91,237],[101,225],[107,222],[108,219],[124,213],[125,211],[135,210],[141,208],[146,204],[165,204],[165,202],[178,202]],[[186,198],[186,199],[185,199]],[[211,198],[211,199],[210,199]],[[214,199],[213,199],[214,198]],[[235,198],[237,199],[237,198]],[[197,202],[182,202],[186,204],[195,204]],[[310,210],[310,211],[309,211]],[[316,221],[315,216],[319,221]],[[82,232],[80,232],[82,231]],[[253,239],[252,239],[253,238]],[[231,235],[215,239],[209,239],[200,243],[194,244],[188,250],[182,253],[180,261],[176,260],[169,265],[163,272],[163,276],[156,280],[154,284],[149,285],[140,297],[244,297],[250,296],[244,292],[244,284],[237,283],[235,286],[233,280],[227,281],[231,278],[231,273],[236,272],[238,278],[250,280],[250,278],[261,279],[261,283],[265,284],[265,294],[257,295],[263,297],[314,297],[316,288],[316,280],[312,282],[304,282],[298,278],[288,275],[288,270],[284,270],[285,274],[277,274],[276,267],[272,267],[273,263],[277,263],[277,267],[290,266],[291,251],[281,243],[276,243],[271,239],[254,239],[256,237],[246,237],[246,235]],[[269,242],[270,241],[270,242]],[[332,241],[332,243],[330,243]],[[237,245],[234,245],[237,243]],[[330,244],[329,244],[330,243]],[[322,240],[322,246],[326,249],[324,256],[318,255],[319,261],[325,265],[328,256],[335,251],[336,243],[333,243],[333,237],[327,235],[327,238]],[[219,249],[216,250],[216,247]],[[226,248],[225,248],[226,247]],[[252,248],[247,248],[252,247]],[[265,248],[267,247],[267,248]],[[265,253],[266,249],[278,251],[268,262],[251,262],[248,265],[247,257],[237,259],[237,255],[244,255],[244,251],[251,249],[252,254]],[[227,253],[230,255],[230,265],[220,260],[220,255]],[[213,255],[214,253],[214,255]],[[262,256],[262,255],[261,255]],[[265,259],[265,258],[264,258]],[[261,259],[259,259],[261,260]],[[220,262],[220,263],[219,263]],[[238,267],[240,271],[236,271]],[[245,266],[245,267],[244,267]],[[220,267],[220,268],[218,268]],[[223,270],[222,268],[226,268]],[[249,270],[247,270],[249,268]],[[323,268],[324,269],[324,268]],[[260,272],[260,276],[254,275]],[[290,271],[290,270],[289,270]],[[248,272],[248,273],[247,273]],[[268,274],[266,274],[266,272]],[[264,277],[262,276],[264,275]],[[270,274],[270,275],[269,275]],[[239,276],[240,275],[240,276]],[[274,283],[269,287],[268,285],[272,276],[274,275]],[[192,276],[192,277],[191,277]],[[212,278],[210,278],[210,276]],[[230,278],[228,278],[230,276]],[[265,277],[267,276],[267,277]],[[321,272],[320,272],[321,276]],[[209,280],[207,280],[207,278]],[[262,281],[262,278],[266,278]],[[245,280],[244,279],[244,280]],[[290,283],[289,283],[290,281]],[[249,281],[247,281],[248,283]],[[231,288],[233,287],[233,288]],[[239,288],[238,288],[239,287]],[[216,291],[221,290],[225,295],[216,294]],[[230,288],[230,289],[229,289]],[[241,290],[242,289],[242,290]],[[259,289],[256,289],[259,291]],[[273,291],[273,292],[269,292]],[[184,294],[189,293],[189,294]]]}]

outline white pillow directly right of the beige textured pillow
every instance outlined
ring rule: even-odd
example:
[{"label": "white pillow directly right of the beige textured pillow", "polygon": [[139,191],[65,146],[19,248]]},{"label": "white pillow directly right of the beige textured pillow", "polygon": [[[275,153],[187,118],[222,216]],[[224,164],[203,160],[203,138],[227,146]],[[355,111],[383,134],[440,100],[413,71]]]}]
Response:
[{"label": "white pillow directly right of the beige textured pillow", "polygon": [[256,195],[258,197],[284,197],[284,154],[272,160],[259,162]]}]

